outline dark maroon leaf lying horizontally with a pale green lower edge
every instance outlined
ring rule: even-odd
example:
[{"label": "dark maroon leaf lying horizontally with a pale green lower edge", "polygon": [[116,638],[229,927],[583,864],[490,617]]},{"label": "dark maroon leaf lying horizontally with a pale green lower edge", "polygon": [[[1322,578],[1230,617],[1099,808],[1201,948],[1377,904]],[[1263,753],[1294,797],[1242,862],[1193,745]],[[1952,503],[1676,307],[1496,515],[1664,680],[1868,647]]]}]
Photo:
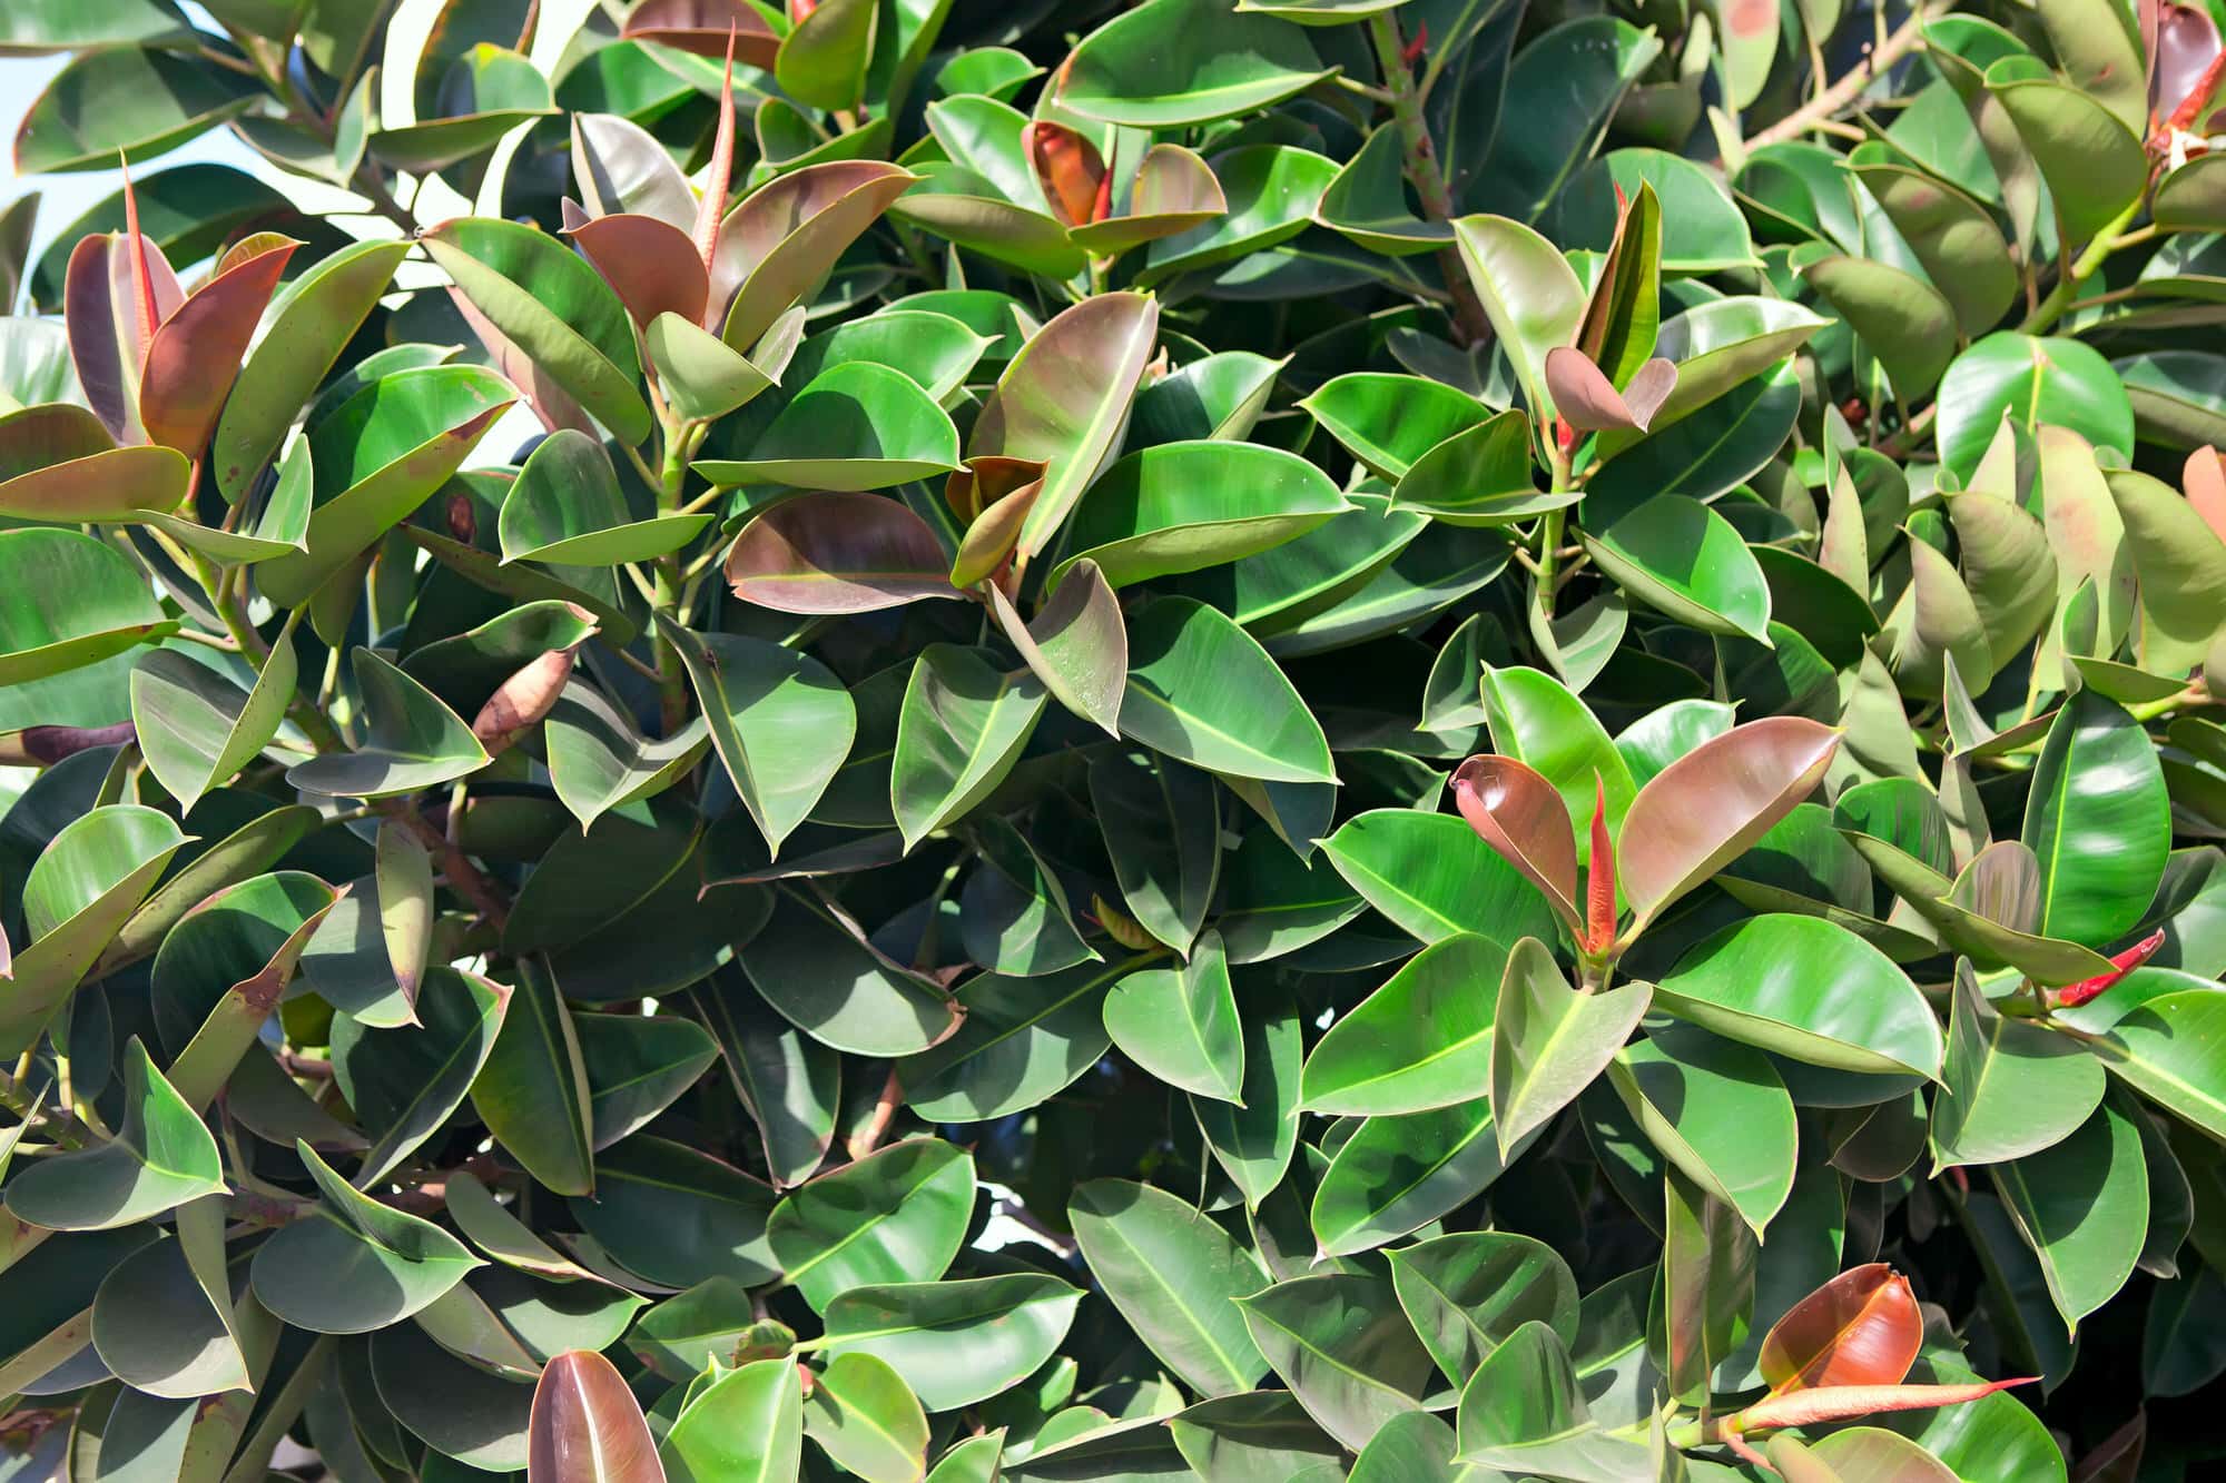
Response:
[{"label": "dark maroon leaf lying horizontally with a pale green lower edge", "polygon": [[799,494],[741,528],[726,552],[735,597],[779,612],[873,612],[964,597],[928,523],[881,494]]}]

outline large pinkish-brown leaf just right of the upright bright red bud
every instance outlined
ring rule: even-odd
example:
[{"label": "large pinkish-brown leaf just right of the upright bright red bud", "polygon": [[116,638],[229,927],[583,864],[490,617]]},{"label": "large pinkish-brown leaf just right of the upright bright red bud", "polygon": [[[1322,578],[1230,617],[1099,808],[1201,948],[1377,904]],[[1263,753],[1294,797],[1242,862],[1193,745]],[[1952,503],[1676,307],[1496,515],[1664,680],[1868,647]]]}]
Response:
[{"label": "large pinkish-brown leaf just right of the upright bright red bud", "polygon": [[1623,815],[1623,897],[1645,924],[1794,811],[1823,779],[1839,733],[1796,715],[1747,721],[1654,775]]}]

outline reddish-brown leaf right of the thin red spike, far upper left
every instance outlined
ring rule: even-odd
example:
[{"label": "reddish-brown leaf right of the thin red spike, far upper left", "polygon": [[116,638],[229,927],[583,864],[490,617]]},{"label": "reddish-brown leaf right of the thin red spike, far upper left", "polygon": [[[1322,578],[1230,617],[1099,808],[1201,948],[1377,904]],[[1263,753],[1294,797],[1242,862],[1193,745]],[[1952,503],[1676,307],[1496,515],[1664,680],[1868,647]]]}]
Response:
[{"label": "reddish-brown leaf right of the thin red spike, far upper left", "polygon": [[203,283],[154,332],[140,381],[140,425],[149,443],[176,448],[187,459],[209,445],[240,359],[296,247],[294,238],[272,238],[263,252]]}]

